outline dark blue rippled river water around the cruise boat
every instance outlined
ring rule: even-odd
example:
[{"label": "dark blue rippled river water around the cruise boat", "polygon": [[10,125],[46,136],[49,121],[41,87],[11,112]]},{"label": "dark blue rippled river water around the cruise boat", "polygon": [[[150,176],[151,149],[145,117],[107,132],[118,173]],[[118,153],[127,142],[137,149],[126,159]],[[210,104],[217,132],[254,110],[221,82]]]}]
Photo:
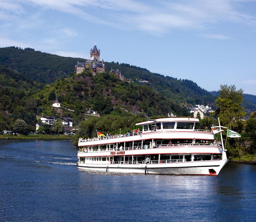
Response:
[{"label": "dark blue rippled river water around the cruise boat", "polygon": [[256,166],[219,176],[82,172],[67,140],[0,140],[0,221],[256,221]]}]

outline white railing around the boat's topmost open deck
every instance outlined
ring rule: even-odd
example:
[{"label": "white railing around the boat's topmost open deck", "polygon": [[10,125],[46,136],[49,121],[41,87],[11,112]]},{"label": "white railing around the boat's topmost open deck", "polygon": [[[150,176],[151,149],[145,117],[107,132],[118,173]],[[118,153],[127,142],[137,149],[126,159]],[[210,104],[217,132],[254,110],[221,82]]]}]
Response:
[{"label": "white railing around the boat's topmost open deck", "polygon": [[[182,129],[173,129],[173,131],[176,130],[182,130]],[[184,130],[188,130],[188,129],[184,129]],[[159,133],[162,132],[164,133],[166,130],[165,129],[155,129],[155,130],[150,130],[151,132],[155,132],[158,131]],[[168,129],[168,131],[170,131],[170,129]],[[205,129],[194,129],[192,131],[197,131],[197,132],[212,132],[211,130],[205,130]],[[148,132],[148,131],[144,131],[144,132]],[[144,133],[143,132],[143,133]],[[93,137],[93,138],[79,138],[78,142],[89,142],[89,141],[95,141],[95,140],[103,140],[103,139],[113,139],[113,138],[120,138],[120,137],[127,137],[127,136],[138,136],[141,135],[141,132],[135,133],[135,132],[129,132],[129,133],[125,133],[125,134],[115,134],[115,135],[107,135],[107,136],[101,136],[101,137]]]}]

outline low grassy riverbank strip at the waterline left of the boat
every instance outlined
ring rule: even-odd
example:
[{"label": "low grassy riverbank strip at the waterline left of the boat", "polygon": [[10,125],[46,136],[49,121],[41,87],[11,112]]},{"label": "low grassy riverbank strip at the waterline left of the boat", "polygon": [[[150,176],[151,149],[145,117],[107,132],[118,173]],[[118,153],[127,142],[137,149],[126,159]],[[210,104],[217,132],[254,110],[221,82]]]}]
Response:
[{"label": "low grassy riverbank strip at the waterline left of the boat", "polygon": [[44,135],[44,134],[2,134],[0,139],[71,139],[74,140],[75,135]]}]

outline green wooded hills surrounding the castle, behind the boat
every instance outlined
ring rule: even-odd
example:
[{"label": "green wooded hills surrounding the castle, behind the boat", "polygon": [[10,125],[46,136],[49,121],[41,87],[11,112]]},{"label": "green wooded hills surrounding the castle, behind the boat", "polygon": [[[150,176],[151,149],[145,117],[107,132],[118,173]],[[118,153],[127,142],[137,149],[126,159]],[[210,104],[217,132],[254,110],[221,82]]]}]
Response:
[{"label": "green wooded hills surrounding the castle, behind the boat", "polygon": [[[105,62],[106,72],[96,76],[91,71],[75,75],[77,60],[83,61],[30,48],[0,48],[0,130],[10,129],[17,118],[24,119],[32,130],[35,114],[72,117],[78,123],[92,110],[101,115],[166,117],[171,112],[189,116],[188,108],[195,104],[214,107],[216,95],[191,80],[118,62]],[[112,68],[131,83],[118,80],[109,72]],[[55,96],[61,102],[60,110],[51,107]],[[247,97],[245,104],[255,111],[256,96]]]}]

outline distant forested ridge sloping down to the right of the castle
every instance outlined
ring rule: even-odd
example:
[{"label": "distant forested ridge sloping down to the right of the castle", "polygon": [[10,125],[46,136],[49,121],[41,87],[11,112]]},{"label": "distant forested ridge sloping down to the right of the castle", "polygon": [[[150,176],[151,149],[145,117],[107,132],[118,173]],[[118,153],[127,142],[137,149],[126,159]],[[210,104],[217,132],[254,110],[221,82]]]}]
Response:
[{"label": "distant forested ridge sloping down to the right of the castle", "polygon": [[[183,101],[192,104],[212,105],[214,101],[209,99],[210,97],[212,98],[209,92],[188,79],[178,80],[177,78],[165,77],[126,63],[105,62],[105,67],[109,70],[111,68],[118,69],[122,75],[133,80],[136,84],[147,85],[177,103]],[[148,82],[140,82],[140,80]]]}]

